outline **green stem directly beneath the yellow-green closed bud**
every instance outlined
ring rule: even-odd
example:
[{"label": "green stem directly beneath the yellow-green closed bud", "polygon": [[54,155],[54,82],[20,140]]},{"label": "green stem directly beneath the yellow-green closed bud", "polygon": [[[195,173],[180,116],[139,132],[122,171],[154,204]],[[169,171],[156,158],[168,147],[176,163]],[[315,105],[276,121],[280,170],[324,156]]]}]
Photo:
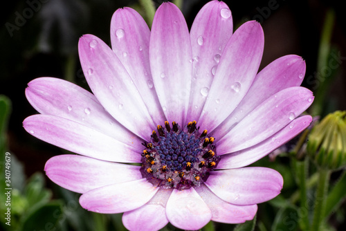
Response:
[{"label": "green stem directly beneath the yellow-green closed bud", "polygon": [[320,169],[317,192],[315,198],[315,207],[313,211],[313,221],[311,230],[318,231],[321,228],[322,221],[325,220],[325,205],[327,198],[327,189],[329,184],[329,176],[331,171],[329,169]]}]

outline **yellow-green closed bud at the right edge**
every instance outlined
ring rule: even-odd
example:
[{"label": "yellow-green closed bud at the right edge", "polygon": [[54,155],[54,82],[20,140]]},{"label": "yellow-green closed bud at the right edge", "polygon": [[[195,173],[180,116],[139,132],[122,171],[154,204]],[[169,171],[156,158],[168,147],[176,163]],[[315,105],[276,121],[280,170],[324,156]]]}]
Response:
[{"label": "yellow-green closed bud at the right edge", "polygon": [[346,165],[346,111],[330,113],[313,127],[307,153],[325,169],[336,170]]}]

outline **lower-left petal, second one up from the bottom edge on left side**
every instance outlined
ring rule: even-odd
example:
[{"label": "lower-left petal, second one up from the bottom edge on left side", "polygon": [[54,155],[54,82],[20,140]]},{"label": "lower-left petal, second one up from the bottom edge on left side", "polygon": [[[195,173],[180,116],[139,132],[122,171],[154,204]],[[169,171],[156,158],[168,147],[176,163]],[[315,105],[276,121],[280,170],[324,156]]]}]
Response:
[{"label": "lower-left petal, second one up from the bottom edge on left side", "polygon": [[105,214],[127,212],[147,203],[157,190],[144,178],[107,185],[82,194],[80,205],[86,210]]}]

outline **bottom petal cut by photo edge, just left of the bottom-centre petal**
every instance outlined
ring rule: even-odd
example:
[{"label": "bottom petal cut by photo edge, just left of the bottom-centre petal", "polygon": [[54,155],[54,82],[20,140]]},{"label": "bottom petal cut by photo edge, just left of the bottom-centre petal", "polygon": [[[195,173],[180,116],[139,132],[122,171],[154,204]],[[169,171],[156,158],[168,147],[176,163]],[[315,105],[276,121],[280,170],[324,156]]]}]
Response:
[{"label": "bottom petal cut by photo edge, just left of the bottom-centre petal", "polygon": [[148,203],[136,210],[125,212],[122,223],[128,230],[133,231],[152,231],[165,227],[168,223],[165,207],[171,193],[172,190],[161,188]]}]

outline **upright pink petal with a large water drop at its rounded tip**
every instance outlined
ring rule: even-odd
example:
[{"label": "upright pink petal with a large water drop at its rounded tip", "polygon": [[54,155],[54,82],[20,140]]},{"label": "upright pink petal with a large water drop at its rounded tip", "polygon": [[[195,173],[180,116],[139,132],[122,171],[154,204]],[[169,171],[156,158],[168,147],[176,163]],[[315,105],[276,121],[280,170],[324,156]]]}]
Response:
[{"label": "upright pink petal with a large water drop at its rounded tip", "polygon": [[192,24],[192,84],[188,121],[198,120],[221,53],[233,33],[230,9],[223,1],[206,3]]}]

